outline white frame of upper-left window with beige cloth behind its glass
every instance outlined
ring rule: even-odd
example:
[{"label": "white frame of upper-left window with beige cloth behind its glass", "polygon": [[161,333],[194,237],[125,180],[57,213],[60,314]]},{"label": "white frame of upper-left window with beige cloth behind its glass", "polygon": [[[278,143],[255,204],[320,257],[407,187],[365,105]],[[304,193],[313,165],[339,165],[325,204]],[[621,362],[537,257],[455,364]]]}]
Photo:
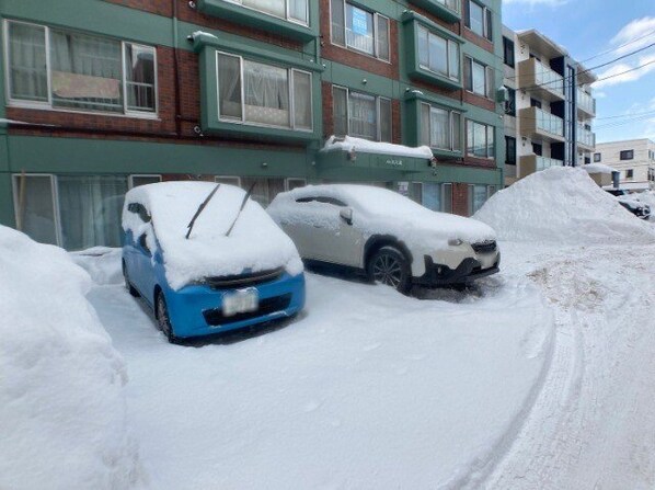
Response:
[{"label": "white frame of upper-left window with beige cloth behind its glass", "polygon": [[[23,25],[31,25],[34,27],[41,27],[44,30],[45,35],[45,50],[46,50],[46,79],[47,79],[47,90],[48,90],[48,100],[47,102],[37,102],[37,101],[24,101],[21,99],[13,99],[11,96],[11,73],[10,73],[10,65],[9,65],[9,24],[23,24]],[[23,109],[39,109],[53,112],[66,112],[66,113],[76,113],[76,114],[93,114],[93,115],[104,115],[111,117],[133,117],[133,118],[145,118],[145,119],[157,119],[159,118],[159,79],[158,79],[158,60],[157,60],[157,48],[154,46],[149,46],[147,44],[140,43],[133,43],[131,41],[120,41],[120,68],[122,68],[122,79],[120,82],[123,83],[120,88],[120,93],[123,95],[123,112],[122,113],[113,113],[106,111],[90,111],[90,110],[76,110],[73,107],[55,107],[53,106],[53,70],[51,70],[51,60],[50,60],[50,26],[44,24],[37,24],[33,22],[23,22],[23,21],[15,21],[13,19],[4,19],[2,23],[3,30],[3,55],[4,55],[4,87],[5,87],[5,100],[8,105],[14,107],[23,107]],[[76,32],[74,30],[64,29],[66,32]],[[110,38],[110,36],[96,35],[92,34],[95,37],[104,37]],[[135,111],[135,110],[127,110],[127,93],[126,93],[126,72],[125,72],[125,45],[131,44],[135,46],[147,47],[151,48],[153,53],[153,69],[154,69],[154,112],[152,111]]]}]

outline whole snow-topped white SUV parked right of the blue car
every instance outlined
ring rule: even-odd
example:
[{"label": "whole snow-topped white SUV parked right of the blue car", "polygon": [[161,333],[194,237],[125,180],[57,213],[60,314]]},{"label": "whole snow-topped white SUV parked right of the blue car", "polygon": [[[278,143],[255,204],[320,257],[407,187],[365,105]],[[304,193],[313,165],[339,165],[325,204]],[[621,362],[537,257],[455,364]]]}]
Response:
[{"label": "whole snow-topped white SUV parked right of the blue car", "polygon": [[498,272],[501,253],[487,225],[432,212],[386,189],[310,185],[278,194],[267,210],[302,259],[355,267],[401,293]]}]

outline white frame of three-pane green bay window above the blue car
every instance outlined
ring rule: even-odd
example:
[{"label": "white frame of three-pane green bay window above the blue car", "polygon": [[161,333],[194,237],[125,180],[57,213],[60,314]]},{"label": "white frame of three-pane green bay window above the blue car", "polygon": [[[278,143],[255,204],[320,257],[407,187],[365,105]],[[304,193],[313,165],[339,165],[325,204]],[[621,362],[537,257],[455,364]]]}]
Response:
[{"label": "white frame of three-pane green bay window above the blue car", "polygon": [[[221,114],[220,114],[220,87],[219,87],[220,76],[219,76],[218,59],[219,59],[219,56],[221,56],[221,55],[230,56],[232,58],[239,58],[239,76],[241,77],[241,117],[240,118],[225,117],[225,116],[221,116]],[[252,58],[244,58],[241,55],[221,52],[218,49],[216,50],[215,59],[216,59],[216,109],[217,109],[219,122],[232,123],[232,124],[243,124],[244,126],[272,127],[272,128],[276,128],[276,129],[288,129],[288,130],[302,132],[302,133],[313,133],[313,130],[314,130],[313,73],[311,71],[301,70],[301,69],[292,68],[292,67],[279,66],[279,65],[272,65],[268,61],[257,61]],[[290,121],[289,126],[277,126],[275,124],[253,123],[250,121],[245,121],[245,111],[244,111],[244,105],[245,105],[245,103],[244,103],[244,100],[245,100],[244,80],[245,79],[243,77],[243,60],[258,62],[261,65],[267,65],[267,66],[271,66],[274,68],[281,68],[283,70],[287,71],[287,80],[288,80],[288,86],[289,86],[288,87],[288,90],[289,90],[289,121]],[[310,122],[311,122],[311,128],[309,128],[309,129],[304,128],[304,127],[297,127],[297,125],[296,125],[296,100],[294,96],[295,95],[295,89],[294,89],[294,83],[295,83],[294,73],[295,72],[309,75],[309,105],[310,105]]]}]

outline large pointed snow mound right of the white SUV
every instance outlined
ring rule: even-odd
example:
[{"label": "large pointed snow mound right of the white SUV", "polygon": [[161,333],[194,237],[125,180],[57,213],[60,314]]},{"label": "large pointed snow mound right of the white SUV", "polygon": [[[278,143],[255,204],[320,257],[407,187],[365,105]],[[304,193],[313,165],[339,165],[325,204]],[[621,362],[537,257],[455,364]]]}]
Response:
[{"label": "large pointed snow mound right of the white SUV", "polygon": [[581,169],[556,167],[497,192],[473,216],[502,240],[652,243],[653,227],[625,210]]}]

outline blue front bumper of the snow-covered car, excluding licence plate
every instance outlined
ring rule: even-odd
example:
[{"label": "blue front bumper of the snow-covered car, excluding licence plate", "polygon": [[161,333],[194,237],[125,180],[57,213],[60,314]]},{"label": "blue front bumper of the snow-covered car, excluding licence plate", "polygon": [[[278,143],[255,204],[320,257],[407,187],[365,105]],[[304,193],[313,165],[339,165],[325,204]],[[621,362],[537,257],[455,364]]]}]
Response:
[{"label": "blue front bumper of the snow-covered car, excluding licence plate", "polygon": [[258,308],[233,317],[222,316],[225,294],[235,289],[212,289],[205,285],[191,285],[180,290],[166,292],[169,316],[175,337],[211,335],[260,323],[288,318],[304,306],[304,275],[285,273],[276,281],[253,286],[258,295]]}]

